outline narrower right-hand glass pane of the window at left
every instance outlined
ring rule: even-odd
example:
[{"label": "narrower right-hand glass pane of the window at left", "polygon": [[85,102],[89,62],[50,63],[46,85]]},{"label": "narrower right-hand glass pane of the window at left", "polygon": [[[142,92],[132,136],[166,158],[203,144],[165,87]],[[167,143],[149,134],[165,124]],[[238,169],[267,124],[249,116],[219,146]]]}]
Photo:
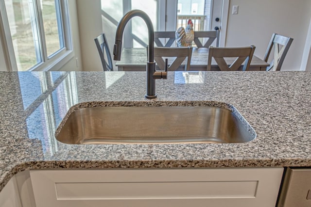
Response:
[{"label": "narrower right-hand glass pane of the window at left", "polygon": [[59,1],[41,0],[41,7],[47,54],[49,57],[64,47]]}]

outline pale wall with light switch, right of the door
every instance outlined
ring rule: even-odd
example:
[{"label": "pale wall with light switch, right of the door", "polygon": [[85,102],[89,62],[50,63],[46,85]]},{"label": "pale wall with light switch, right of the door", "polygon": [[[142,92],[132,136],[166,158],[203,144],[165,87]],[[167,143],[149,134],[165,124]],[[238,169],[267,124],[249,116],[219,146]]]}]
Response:
[{"label": "pale wall with light switch, right of the door", "polygon": [[[255,45],[263,58],[272,33],[294,38],[282,70],[299,70],[311,18],[310,0],[230,0],[226,47]],[[232,6],[239,14],[232,15]]]}]

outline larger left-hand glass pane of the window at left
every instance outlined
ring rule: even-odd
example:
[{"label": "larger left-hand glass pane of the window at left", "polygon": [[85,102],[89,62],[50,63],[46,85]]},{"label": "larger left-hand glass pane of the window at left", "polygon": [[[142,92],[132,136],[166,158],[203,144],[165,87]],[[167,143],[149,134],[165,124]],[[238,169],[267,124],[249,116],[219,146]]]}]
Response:
[{"label": "larger left-hand glass pane of the window at left", "polygon": [[27,0],[5,0],[6,13],[19,71],[40,63],[39,39],[34,4]]}]

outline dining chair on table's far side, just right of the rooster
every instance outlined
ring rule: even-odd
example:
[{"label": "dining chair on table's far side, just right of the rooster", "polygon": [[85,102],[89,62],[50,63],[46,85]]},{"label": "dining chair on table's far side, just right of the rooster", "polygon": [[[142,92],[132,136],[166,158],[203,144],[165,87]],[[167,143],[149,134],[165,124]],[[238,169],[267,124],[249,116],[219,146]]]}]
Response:
[{"label": "dining chair on table's far side, just right of the rooster", "polygon": [[[203,45],[199,38],[208,38]],[[219,30],[217,31],[194,31],[193,42],[198,48],[208,48],[216,40],[216,47],[219,47]]]}]

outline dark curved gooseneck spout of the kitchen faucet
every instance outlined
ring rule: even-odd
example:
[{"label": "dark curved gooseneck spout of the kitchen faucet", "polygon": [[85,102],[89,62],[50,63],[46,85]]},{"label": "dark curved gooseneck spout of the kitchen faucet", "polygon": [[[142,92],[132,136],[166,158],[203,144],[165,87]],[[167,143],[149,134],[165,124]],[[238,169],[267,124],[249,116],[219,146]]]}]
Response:
[{"label": "dark curved gooseneck spout of the kitchen faucet", "polygon": [[116,40],[115,40],[115,45],[113,48],[113,54],[114,54],[114,60],[120,61],[121,59],[121,47],[122,47],[122,36],[123,36],[123,31],[125,28],[125,25],[127,22],[134,16],[139,16],[141,17],[148,28],[148,37],[149,37],[149,63],[154,62],[154,27],[152,24],[152,21],[150,17],[143,11],[141,10],[131,10],[128,13],[126,13],[120,20],[118,27],[117,27],[117,32],[116,32]]}]

